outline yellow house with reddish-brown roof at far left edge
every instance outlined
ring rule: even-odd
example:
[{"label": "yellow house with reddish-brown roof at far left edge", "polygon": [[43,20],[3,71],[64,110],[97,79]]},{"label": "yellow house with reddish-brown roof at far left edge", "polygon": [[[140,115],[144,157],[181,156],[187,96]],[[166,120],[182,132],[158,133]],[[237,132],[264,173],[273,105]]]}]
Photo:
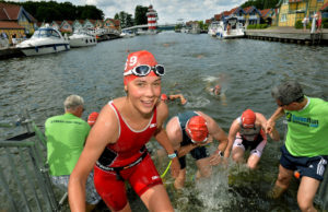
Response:
[{"label": "yellow house with reddish-brown roof at far left edge", "polygon": [[23,7],[3,2],[0,2],[0,31],[9,38],[14,34],[17,38],[24,37],[25,34],[33,34],[37,23]]}]

